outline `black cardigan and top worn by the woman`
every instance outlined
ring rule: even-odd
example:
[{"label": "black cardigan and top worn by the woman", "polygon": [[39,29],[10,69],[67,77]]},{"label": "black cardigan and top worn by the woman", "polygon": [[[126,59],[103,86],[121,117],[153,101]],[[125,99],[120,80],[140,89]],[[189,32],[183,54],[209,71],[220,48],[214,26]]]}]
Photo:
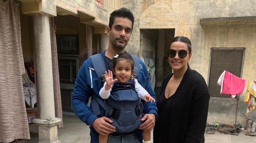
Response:
[{"label": "black cardigan and top worn by the woman", "polygon": [[157,97],[154,143],[204,143],[210,99],[206,82],[197,71],[187,69],[174,95],[166,99],[171,76],[165,77]]}]

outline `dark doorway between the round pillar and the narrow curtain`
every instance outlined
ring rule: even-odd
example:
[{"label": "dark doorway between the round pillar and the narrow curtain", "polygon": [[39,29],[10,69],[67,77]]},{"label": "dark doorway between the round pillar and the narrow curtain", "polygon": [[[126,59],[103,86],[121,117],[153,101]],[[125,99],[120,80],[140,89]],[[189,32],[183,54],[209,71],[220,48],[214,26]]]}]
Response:
[{"label": "dark doorway between the round pillar and the narrow curtain", "polygon": [[56,40],[62,109],[72,111],[71,97],[79,68],[78,36],[56,36]]}]

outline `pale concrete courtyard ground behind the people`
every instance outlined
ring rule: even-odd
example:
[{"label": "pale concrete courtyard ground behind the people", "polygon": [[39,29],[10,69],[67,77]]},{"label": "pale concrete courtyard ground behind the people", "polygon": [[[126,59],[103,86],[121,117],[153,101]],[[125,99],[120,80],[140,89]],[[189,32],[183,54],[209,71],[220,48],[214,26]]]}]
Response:
[{"label": "pale concrete courtyard ground behind the people", "polygon": [[[58,129],[61,143],[90,143],[89,126],[77,117],[63,116],[64,127]],[[30,124],[30,137],[27,143],[38,143],[38,129]],[[216,132],[214,135],[205,134],[205,143],[256,143],[256,136],[246,136],[241,132],[238,136]]]}]

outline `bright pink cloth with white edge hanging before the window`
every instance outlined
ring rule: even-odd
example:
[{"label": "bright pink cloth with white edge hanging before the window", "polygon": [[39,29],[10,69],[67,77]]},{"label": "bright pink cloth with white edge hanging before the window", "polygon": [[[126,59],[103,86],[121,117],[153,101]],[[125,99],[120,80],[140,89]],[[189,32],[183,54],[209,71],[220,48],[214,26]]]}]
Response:
[{"label": "bright pink cloth with white edge hanging before the window", "polygon": [[230,95],[234,98],[236,95],[243,93],[245,82],[246,80],[224,70],[217,83],[221,86],[220,94]]}]

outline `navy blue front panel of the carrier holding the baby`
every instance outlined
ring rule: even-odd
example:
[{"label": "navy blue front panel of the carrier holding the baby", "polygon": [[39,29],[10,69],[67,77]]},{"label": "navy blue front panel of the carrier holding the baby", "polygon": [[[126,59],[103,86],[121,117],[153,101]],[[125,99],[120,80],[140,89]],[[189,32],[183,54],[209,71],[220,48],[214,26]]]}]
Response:
[{"label": "navy blue front panel of the carrier holding the baby", "polygon": [[115,133],[127,133],[138,129],[143,117],[143,104],[133,89],[115,90],[106,99],[106,103],[111,105],[114,109],[120,111],[119,119],[116,120],[112,116],[109,118],[113,120],[113,126],[116,127]]}]

